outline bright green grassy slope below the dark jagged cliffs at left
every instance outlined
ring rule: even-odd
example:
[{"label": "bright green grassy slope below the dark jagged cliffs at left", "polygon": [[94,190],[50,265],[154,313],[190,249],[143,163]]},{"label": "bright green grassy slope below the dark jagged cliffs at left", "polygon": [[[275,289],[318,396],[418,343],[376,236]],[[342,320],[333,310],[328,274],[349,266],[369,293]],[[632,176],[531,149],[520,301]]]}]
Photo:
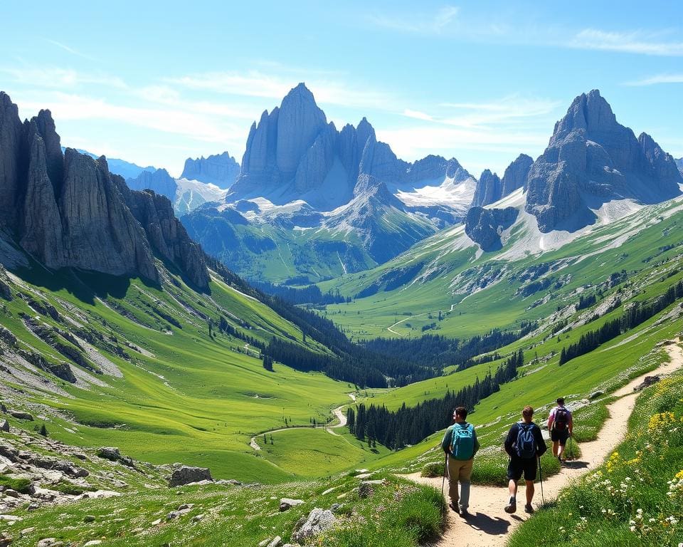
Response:
[{"label": "bright green grassy slope below the dark jagged cliffs at left", "polygon": [[[41,291],[40,280],[33,281],[37,285],[24,288],[24,292]],[[63,285],[52,287],[53,291],[41,291],[42,298],[63,315],[69,314],[68,308],[77,308],[77,314],[70,315],[104,335],[113,333],[120,342],[127,340],[153,355],[125,348],[134,355],[134,362],[128,362],[105,354],[122,370],[122,378],[100,377],[107,387],[94,386],[91,390],[60,382],[74,398],[38,395],[37,400],[68,410],[79,422],[75,427],[60,417],[48,422],[53,437],[63,442],[92,447],[114,445],[136,459],[211,467],[218,477],[282,481],[291,477],[296,467],[287,465],[286,458],[280,458],[280,463],[287,470],[255,457],[248,446],[249,438],[283,426],[285,417],[295,425],[307,425],[311,418],[323,420],[333,407],[349,401],[346,392],[351,388],[324,375],[298,373],[277,364],[275,371],[269,373],[254,353],[245,353],[242,340],[222,334],[209,338],[206,321],[187,313],[174,301],[175,297],[191,302],[214,318],[218,304],[223,315],[231,314],[228,321],[234,316],[250,325],[243,330],[247,335],[261,340],[272,334],[287,335],[302,343],[301,333],[294,325],[222,282],[212,283],[211,296],[170,285],[159,291],[139,280],[132,280],[115,296],[103,296],[110,306],[126,308],[148,327],[130,321],[99,299],[84,298],[83,287]],[[164,308],[183,328],[145,313],[149,310],[145,303]],[[20,312],[36,315],[26,303],[14,298],[6,303],[1,323],[50,360],[63,360],[23,327]],[[65,327],[49,318],[41,319]],[[235,321],[231,323],[235,325]],[[315,345],[313,348],[324,350]],[[316,474],[315,464],[310,467],[312,474]],[[321,474],[326,472],[322,467],[321,464]]]}]

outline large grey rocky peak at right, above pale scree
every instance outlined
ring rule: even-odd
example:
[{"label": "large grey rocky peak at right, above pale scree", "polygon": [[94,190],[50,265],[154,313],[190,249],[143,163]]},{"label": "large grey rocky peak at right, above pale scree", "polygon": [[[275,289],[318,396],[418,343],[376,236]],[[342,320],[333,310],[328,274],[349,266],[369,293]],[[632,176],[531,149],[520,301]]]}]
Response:
[{"label": "large grey rocky peak at right, above pale scree", "polygon": [[652,137],[620,125],[598,90],[579,95],[555,125],[526,179],[526,211],[541,231],[593,222],[591,207],[612,199],[652,204],[680,193],[683,177]]}]

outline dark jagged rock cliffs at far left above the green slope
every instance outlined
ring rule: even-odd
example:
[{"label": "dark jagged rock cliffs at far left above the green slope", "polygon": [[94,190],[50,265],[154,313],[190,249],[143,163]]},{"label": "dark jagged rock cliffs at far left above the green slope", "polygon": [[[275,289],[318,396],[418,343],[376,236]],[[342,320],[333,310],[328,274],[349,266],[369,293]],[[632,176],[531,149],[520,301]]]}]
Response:
[{"label": "dark jagged rock cliffs at far left above the green slope", "polygon": [[[1,249],[16,244],[51,269],[71,267],[158,282],[157,251],[196,286],[208,286],[203,253],[173,217],[166,198],[129,192],[122,177],[110,173],[105,157],[94,160],[72,148],[63,153],[50,111],[41,110],[21,123],[4,92],[0,229]],[[6,257],[7,252],[0,252],[0,260]]]}]

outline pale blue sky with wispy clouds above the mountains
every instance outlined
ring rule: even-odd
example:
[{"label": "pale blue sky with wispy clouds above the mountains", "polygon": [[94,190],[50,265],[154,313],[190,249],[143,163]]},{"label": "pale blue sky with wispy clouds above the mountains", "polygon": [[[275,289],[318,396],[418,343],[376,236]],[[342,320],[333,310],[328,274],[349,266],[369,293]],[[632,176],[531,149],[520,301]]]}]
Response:
[{"label": "pale blue sky with wispy clouds above the mountains", "polygon": [[50,108],[63,145],[166,167],[228,150],[304,81],[338,128],[476,177],[543,152],[593,88],[683,156],[683,3],[3,4],[0,90]]}]

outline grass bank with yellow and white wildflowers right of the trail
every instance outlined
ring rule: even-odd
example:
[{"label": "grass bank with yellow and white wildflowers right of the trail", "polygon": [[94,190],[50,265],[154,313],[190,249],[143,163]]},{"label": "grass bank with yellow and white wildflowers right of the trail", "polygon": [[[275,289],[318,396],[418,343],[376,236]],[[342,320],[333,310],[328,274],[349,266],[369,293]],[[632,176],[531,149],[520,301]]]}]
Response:
[{"label": "grass bank with yellow and white wildflowers right of the trail", "polygon": [[[676,546],[683,541],[683,376],[643,392],[623,443],[509,546]],[[548,531],[556,531],[549,536]]]}]

